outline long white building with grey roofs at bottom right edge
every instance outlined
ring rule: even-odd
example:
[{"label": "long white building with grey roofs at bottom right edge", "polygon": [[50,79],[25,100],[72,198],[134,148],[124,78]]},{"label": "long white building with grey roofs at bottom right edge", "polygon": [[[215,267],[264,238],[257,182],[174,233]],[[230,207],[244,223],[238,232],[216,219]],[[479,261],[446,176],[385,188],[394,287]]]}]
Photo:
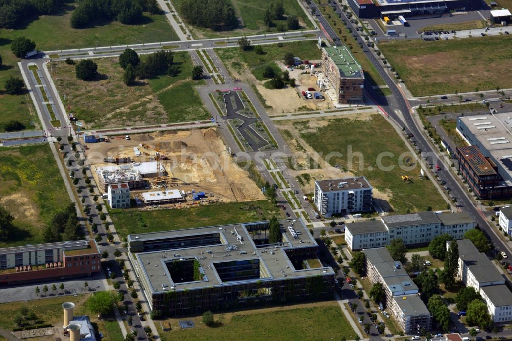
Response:
[{"label": "long white building with grey roofs at bottom right edge", "polygon": [[[446,242],[446,249],[451,242]],[[504,276],[496,269],[487,255],[479,252],[468,239],[458,240],[459,268],[457,277],[466,287],[480,293],[495,323],[512,321],[512,292],[505,284]]]}]

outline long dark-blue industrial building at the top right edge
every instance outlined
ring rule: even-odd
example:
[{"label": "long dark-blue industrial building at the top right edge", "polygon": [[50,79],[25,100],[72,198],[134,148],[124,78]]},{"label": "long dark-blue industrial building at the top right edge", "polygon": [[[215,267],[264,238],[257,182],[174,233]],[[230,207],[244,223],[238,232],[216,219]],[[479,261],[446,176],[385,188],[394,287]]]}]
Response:
[{"label": "long dark-blue industrial building at the top right edge", "polygon": [[349,0],[349,6],[359,18],[391,19],[404,17],[432,16],[450,11],[470,11],[481,8],[477,0]]}]

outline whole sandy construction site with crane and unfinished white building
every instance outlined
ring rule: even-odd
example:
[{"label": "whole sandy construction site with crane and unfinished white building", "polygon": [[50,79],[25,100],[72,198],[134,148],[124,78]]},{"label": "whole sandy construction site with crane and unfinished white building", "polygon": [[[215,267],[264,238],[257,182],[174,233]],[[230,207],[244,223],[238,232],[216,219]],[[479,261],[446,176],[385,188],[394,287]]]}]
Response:
[{"label": "whole sandy construction site with crane and unfinished white building", "polygon": [[109,184],[128,183],[131,197],[140,205],[152,191],[171,190],[182,193],[183,200],[158,200],[151,207],[264,199],[247,171],[232,161],[215,128],[158,131],[129,139],[110,136],[88,143],[86,156],[100,190],[106,192]]}]

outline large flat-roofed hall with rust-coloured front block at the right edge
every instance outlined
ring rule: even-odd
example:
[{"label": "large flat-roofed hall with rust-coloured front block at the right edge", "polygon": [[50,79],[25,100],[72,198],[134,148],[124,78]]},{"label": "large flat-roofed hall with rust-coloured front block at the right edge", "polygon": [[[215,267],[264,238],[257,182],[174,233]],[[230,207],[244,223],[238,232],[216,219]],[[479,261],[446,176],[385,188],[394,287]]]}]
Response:
[{"label": "large flat-roofed hall with rust-coloured front block at the right edge", "polygon": [[479,199],[512,198],[512,113],[460,116],[459,171]]}]

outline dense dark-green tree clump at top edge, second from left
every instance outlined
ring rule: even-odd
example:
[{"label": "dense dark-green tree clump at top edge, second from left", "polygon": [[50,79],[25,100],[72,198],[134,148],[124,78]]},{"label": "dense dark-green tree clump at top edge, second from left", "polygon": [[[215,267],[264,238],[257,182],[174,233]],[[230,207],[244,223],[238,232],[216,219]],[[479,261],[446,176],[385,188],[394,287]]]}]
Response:
[{"label": "dense dark-green tree clump at top edge, second from left", "polygon": [[81,0],[71,15],[72,28],[84,28],[98,20],[115,20],[121,24],[137,24],[142,12],[158,13],[156,0]]}]

